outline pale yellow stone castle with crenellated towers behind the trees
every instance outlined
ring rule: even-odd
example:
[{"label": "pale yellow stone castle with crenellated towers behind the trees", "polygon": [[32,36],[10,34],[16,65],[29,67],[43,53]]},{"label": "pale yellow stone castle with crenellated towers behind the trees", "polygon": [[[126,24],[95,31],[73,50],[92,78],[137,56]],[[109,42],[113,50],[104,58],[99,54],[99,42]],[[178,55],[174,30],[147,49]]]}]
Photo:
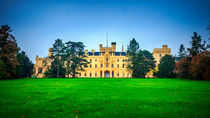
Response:
[{"label": "pale yellow stone castle with crenellated towers behind the trees", "polygon": [[[95,50],[85,50],[87,61],[90,62],[88,67],[84,68],[85,71],[79,72],[77,77],[113,77],[113,78],[130,78],[132,72],[126,68],[126,52],[122,46],[122,51],[116,51],[116,42],[111,43],[111,47],[103,47],[99,45],[99,52]],[[156,65],[159,64],[161,57],[166,54],[171,55],[171,49],[167,45],[162,48],[153,49],[153,57],[155,58]],[[39,58],[36,56],[34,70],[38,78],[44,77],[44,72],[51,66],[51,49],[49,48],[48,57]],[[146,77],[152,78],[153,72],[149,72]]]}]

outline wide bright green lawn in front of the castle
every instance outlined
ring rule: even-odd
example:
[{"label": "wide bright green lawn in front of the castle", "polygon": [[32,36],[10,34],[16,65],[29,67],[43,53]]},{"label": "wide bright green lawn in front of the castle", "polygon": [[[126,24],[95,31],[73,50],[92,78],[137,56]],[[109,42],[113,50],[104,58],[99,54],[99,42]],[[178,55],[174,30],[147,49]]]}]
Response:
[{"label": "wide bright green lawn in front of the castle", "polygon": [[0,81],[0,117],[207,118],[210,82],[179,79]]}]

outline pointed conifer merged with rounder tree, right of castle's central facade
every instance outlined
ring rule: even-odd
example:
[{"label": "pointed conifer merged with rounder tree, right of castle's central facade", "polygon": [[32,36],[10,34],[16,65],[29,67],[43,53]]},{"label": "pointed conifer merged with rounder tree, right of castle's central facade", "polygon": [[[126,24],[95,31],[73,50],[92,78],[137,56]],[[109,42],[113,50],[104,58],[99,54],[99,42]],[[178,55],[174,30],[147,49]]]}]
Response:
[{"label": "pointed conifer merged with rounder tree, right of castle's central facade", "polygon": [[128,66],[132,71],[132,77],[144,78],[145,75],[155,68],[155,61],[152,53],[147,50],[141,51],[138,42],[133,38],[128,45]]}]

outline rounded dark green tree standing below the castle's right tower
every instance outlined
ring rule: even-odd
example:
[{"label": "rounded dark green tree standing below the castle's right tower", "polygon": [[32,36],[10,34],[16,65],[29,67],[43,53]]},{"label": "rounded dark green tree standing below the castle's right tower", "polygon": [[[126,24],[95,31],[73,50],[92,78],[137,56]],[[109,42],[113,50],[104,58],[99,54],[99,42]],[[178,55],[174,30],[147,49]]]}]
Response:
[{"label": "rounded dark green tree standing below the castle's right tower", "polygon": [[160,59],[158,65],[157,76],[161,78],[173,78],[175,77],[175,59],[171,55],[165,55]]}]

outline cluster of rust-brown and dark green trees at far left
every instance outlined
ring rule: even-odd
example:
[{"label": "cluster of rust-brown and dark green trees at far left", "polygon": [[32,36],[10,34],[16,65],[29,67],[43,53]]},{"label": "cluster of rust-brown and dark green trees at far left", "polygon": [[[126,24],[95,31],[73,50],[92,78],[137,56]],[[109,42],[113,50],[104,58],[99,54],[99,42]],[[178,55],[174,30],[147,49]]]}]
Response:
[{"label": "cluster of rust-brown and dark green trees at far left", "polygon": [[31,77],[33,63],[18,47],[8,25],[0,28],[0,79]]}]

